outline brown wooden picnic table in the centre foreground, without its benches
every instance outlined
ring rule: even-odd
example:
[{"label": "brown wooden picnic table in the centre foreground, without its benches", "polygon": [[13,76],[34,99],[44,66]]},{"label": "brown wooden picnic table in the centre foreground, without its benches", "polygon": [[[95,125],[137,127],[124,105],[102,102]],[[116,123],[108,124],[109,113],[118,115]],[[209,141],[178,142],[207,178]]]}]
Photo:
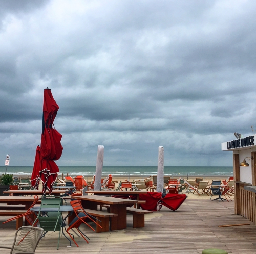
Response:
[{"label": "brown wooden picnic table in the centre foreground, without its benches", "polygon": [[127,211],[126,207],[129,204],[135,204],[137,200],[105,197],[105,196],[76,196],[81,200],[82,206],[85,209],[98,210],[98,205],[110,205],[110,213],[117,214],[117,217],[111,218],[111,230],[122,230],[127,227]]}]

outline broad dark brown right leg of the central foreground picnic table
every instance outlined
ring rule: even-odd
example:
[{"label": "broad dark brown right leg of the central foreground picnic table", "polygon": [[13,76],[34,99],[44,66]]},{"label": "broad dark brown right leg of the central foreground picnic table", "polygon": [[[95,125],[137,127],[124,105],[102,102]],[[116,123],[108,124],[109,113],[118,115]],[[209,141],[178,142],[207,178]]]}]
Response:
[{"label": "broad dark brown right leg of the central foreground picnic table", "polygon": [[111,218],[111,230],[123,230],[127,227],[126,204],[110,205],[110,212],[118,214]]}]

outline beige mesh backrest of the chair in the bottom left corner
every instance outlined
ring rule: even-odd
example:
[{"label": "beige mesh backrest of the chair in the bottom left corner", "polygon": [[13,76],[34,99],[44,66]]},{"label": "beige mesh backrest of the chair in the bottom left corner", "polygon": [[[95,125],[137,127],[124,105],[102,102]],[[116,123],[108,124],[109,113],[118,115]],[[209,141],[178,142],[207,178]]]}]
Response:
[{"label": "beige mesh backrest of the chair in the bottom left corner", "polygon": [[43,233],[44,230],[39,227],[20,227],[15,233],[14,242],[10,254],[16,252],[35,253],[35,249]]}]

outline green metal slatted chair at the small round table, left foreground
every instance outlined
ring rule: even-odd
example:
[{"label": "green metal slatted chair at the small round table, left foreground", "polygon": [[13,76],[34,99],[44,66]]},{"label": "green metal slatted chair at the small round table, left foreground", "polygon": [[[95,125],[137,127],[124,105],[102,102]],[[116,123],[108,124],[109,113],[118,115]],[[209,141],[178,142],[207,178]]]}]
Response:
[{"label": "green metal slatted chair at the small round table, left foreground", "polygon": [[62,200],[59,196],[42,196],[40,210],[37,215],[40,227],[45,231],[42,237],[44,237],[48,231],[59,231],[57,249],[59,249],[62,225],[62,214],[59,211],[61,202]]}]

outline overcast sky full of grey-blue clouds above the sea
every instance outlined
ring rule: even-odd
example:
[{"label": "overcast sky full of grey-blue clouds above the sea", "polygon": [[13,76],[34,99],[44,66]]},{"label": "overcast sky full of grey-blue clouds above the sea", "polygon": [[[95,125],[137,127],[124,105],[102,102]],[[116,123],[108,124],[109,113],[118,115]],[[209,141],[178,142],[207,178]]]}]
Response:
[{"label": "overcast sky full of grey-blue clouds above the sea", "polygon": [[256,2],[1,0],[0,158],[33,165],[42,99],[57,165],[232,166],[256,126]]}]

